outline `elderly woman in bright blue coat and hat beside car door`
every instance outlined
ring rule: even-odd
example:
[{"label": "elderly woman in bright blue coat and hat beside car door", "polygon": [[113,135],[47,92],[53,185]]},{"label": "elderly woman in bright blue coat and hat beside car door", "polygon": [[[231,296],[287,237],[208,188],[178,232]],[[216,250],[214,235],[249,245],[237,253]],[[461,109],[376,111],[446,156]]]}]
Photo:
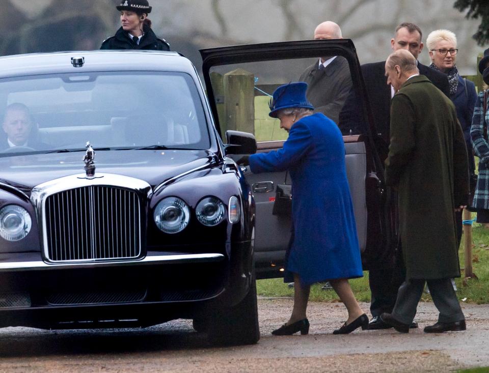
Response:
[{"label": "elderly woman in bright blue coat and hat beside car door", "polygon": [[275,335],[309,332],[306,309],[311,284],[330,281],[348,311],[334,334],[368,328],[348,278],[362,277],[360,248],[345,168],[345,148],[338,126],[313,113],[307,84],[277,88],[269,116],[289,133],[282,149],[251,155],[253,173],[289,170],[292,179],[293,234],[287,252],[285,281],[292,280],[294,306],[290,319]]}]

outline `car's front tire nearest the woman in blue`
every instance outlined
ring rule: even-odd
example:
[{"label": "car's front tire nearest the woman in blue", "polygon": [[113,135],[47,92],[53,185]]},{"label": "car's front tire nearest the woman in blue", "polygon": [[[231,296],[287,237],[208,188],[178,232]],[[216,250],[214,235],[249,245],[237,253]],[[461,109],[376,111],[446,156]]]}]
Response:
[{"label": "car's front tire nearest the woman in blue", "polygon": [[248,294],[241,302],[233,307],[216,311],[209,321],[208,323],[198,321],[196,326],[198,329],[201,327],[207,329],[208,339],[213,345],[253,345],[258,342],[260,328],[254,277]]}]

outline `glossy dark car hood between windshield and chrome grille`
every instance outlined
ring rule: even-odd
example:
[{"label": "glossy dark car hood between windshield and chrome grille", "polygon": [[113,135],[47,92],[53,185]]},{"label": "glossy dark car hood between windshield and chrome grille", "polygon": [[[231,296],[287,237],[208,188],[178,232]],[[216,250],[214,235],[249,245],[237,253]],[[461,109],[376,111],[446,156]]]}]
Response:
[{"label": "glossy dark car hood between windshield and chrome grille", "polygon": [[[0,183],[30,194],[41,183],[85,174],[84,152],[33,154],[0,158]],[[96,173],[118,174],[146,181],[152,187],[195,168],[219,161],[206,150],[96,151]]]}]

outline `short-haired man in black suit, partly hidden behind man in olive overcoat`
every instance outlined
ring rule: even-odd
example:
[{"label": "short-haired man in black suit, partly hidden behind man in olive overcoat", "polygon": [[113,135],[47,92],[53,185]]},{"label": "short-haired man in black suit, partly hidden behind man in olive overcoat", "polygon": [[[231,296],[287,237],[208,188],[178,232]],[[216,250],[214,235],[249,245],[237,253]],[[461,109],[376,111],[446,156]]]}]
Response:
[{"label": "short-haired man in black suit, partly hidden behind man in olive overcoat", "polygon": [[[422,65],[418,61],[418,55],[423,50],[423,42],[421,40],[421,29],[413,23],[404,22],[397,26],[394,38],[391,40],[391,46],[394,51],[399,49],[409,50],[417,61],[419,73],[425,75],[435,87],[448,97],[449,87],[446,75]],[[391,84],[387,83],[385,65],[385,61],[362,65],[362,75],[377,133],[385,141],[385,148],[387,149],[390,142],[390,107],[395,90]],[[347,105],[348,103],[345,104],[345,106]],[[387,156],[387,154],[384,154],[384,156]],[[368,268],[372,295],[370,312],[373,317],[370,321],[370,329],[390,327],[382,322],[380,315],[383,312],[392,312],[397,298],[397,290],[404,281],[405,269],[403,266],[396,264],[394,260],[396,253],[394,250],[390,254],[391,256],[387,259],[384,258],[382,263],[375,263]],[[413,323],[412,326],[416,327],[416,324]]]}]

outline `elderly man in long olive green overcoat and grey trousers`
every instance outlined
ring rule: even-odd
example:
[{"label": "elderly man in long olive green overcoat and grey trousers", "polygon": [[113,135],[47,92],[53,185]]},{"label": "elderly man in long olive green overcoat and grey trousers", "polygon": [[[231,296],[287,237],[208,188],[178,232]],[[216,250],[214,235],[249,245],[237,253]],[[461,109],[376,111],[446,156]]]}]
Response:
[{"label": "elderly man in long olive green overcoat and grey trousers", "polygon": [[391,104],[391,142],[386,183],[398,190],[400,241],[406,279],[392,314],[381,319],[409,332],[428,283],[438,322],[425,332],[465,330],[465,318],[450,279],[460,277],[456,210],[467,205],[467,148],[455,107],[424,75],[406,50],[386,62],[397,93]]}]

